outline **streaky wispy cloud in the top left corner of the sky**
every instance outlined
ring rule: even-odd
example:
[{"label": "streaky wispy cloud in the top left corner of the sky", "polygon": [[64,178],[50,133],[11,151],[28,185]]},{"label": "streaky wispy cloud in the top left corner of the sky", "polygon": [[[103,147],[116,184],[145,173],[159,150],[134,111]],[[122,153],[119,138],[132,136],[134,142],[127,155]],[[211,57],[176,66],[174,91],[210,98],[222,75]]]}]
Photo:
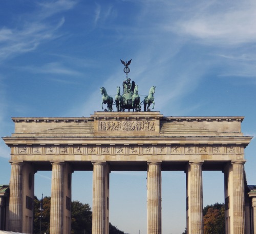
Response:
[{"label": "streaky wispy cloud in the top left corner of the sky", "polygon": [[[53,40],[59,36],[58,29],[62,27],[65,18],[47,22],[46,18],[55,13],[71,9],[74,1],[58,0],[39,4],[39,12],[34,12],[29,18],[20,20],[15,28],[0,29],[0,60],[15,57],[22,53],[35,50],[42,42]],[[25,17],[25,16],[24,16]]]}]

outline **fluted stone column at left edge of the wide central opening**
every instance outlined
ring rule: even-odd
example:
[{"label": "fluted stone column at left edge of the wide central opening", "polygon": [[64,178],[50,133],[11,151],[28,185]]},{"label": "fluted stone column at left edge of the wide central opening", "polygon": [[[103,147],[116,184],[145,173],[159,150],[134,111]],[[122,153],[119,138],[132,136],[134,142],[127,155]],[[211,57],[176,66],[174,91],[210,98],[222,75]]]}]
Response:
[{"label": "fluted stone column at left edge of the wide central opening", "polygon": [[93,163],[92,234],[105,234],[105,173],[106,162]]}]

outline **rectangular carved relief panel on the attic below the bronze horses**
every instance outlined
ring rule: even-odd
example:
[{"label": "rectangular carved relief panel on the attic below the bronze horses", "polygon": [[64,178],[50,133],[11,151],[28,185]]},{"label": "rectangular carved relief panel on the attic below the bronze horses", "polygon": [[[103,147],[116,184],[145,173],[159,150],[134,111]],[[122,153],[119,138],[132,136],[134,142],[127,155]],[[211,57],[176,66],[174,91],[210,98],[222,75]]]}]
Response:
[{"label": "rectangular carved relief panel on the attic below the bronze horses", "polygon": [[155,131],[155,122],[99,121],[99,131]]}]

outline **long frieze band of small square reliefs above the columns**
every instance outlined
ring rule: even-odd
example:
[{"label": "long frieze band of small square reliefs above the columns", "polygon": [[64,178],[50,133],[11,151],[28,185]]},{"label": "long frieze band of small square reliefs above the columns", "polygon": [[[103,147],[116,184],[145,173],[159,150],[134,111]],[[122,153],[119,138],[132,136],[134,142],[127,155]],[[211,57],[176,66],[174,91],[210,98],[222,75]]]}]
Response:
[{"label": "long frieze band of small square reliefs above the columns", "polygon": [[184,155],[184,154],[241,154],[240,145],[35,145],[15,146],[14,154],[124,154],[124,155]]}]

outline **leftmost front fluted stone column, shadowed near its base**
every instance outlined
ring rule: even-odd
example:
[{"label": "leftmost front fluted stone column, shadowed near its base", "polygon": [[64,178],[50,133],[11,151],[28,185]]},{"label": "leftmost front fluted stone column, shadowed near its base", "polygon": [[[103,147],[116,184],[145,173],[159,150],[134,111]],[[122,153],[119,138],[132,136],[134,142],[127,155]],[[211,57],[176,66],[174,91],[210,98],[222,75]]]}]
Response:
[{"label": "leftmost front fluted stone column, shadowed near its base", "polygon": [[9,230],[22,232],[22,162],[11,163]]}]

